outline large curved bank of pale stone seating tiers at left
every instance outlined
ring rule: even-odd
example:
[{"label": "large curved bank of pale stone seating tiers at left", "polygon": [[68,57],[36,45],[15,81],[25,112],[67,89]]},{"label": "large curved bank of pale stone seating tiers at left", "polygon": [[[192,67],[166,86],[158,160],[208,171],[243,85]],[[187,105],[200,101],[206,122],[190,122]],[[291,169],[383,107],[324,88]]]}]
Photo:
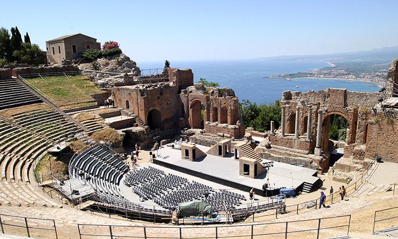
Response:
[{"label": "large curved bank of pale stone seating tiers at left", "polygon": [[74,138],[78,128],[52,108],[0,117],[0,203],[61,206],[29,183],[33,162],[53,145]]}]

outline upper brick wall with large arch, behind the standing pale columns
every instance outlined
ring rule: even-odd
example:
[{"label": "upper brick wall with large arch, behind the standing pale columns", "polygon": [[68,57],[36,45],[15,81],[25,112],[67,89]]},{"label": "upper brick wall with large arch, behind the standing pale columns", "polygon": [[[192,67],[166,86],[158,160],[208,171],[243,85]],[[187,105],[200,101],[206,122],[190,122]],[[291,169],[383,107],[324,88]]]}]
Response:
[{"label": "upper brick wall with large arch, behind the standing pale columns", "polygon": [[[294,129],[294,116],[296,106],[300,106],[299,111],[299,132],[301,135],[306,134],[307,118],[309,106],[312,108],[312,125],[311,138],[316,139],[318,109],[326,108],[326,112],[322,115],[322,142],[323,147],[327,149],[329,132],[329,116],[331,114],[339,114],[346,118],[349,123],[350,130],[347,133],[347,143],[363,142],[363,132],[366,126],[366,118],[368,112],[377,103],[378,93],[365,93],[348,91],[347,89],[328,88],[315,92],[285,91],[281,105],[286,105],[285,129]],[[293,120],[289,120],[293,118]],[[360,134],[357,134],[359,132]]]}]

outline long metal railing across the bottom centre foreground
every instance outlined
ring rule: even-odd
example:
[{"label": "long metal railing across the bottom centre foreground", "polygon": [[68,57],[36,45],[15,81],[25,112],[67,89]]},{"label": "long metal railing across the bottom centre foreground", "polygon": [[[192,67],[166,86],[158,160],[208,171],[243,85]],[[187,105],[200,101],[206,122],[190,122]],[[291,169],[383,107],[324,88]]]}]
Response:
[{"label": "long metal railing across the bottom centre foreground", "polygon": [[[342,219],[344,223],[337,223],[336,221]],[[329,226],[324,226],[325,221],[331,220]],[[294,224],[313,222],[317,226],[300,226]],[[322,233],[327,233],[326,230],[335,229],[333,236],[348,235],[351,225],[351,215],[293,220],[282,222],[268,222],[259,224],[235,224],[235,225],[220,225],[220,226],[129,226],[129,225],[101,225],[101,224],[77,224],[79,237],[82,238],[261,238],[260,236],[284,236],[295,233],[307,233],[314,238],[325,237]],[[239,229],[233,228],[241,228]],[[299,229],[297,229],[297,227]],[[342,229],[346,228],[346,229]],[[224,229],[224,230],[223,230]],[[236,231],[236,233],[231,232]],[[201,233],[202,232],[202,233]],[[241,233],[240,233],[241,232]],[[329,232],[331,233],[331,232]]]}]

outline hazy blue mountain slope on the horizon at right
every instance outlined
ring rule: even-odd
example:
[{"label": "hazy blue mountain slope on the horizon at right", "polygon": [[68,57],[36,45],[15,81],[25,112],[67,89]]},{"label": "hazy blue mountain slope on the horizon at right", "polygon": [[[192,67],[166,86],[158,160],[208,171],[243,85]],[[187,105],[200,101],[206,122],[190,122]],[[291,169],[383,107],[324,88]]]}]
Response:
[{"label": "hazy blue mountain slope on the horizon at right", "polygon": [[391,62],[394,58],[398,58],[398,46],[383,47],[368,51],[333,53],[322,55],[301,55],[301,56],[274,56],[261,57],[256,60],[288,60],[288,61],[330,61],[339,62],[355,62],[355,61],[371,61],[371,62]]}]

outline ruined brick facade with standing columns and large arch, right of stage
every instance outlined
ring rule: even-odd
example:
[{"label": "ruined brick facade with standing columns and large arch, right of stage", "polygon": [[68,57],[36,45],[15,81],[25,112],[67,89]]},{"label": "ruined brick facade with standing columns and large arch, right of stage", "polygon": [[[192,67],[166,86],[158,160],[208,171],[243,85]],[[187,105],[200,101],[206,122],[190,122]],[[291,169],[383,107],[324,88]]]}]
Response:
[{"label": "ruined brick facade with standing columns and large arch, right of stage", "polygon": [[[283,92],[280,103],[282,126],[279,131],[270,132],[271,147],[262,150],[263,157],[326,172],[331,152],[343,148],[344,158],[339,161],[346,160],[351,164],[355,160],[357,168],[362,167],[365,155],[363,145],[369,137],[368,120],[378,98],[378,93],[334,88],[318,92]],[[329,140],[332,115],[341,115],[348,123],[343,143]],[[338,168],[339,163],[335,167]],[[355,167],[350,167],[350,170],[352,168]]]}]

